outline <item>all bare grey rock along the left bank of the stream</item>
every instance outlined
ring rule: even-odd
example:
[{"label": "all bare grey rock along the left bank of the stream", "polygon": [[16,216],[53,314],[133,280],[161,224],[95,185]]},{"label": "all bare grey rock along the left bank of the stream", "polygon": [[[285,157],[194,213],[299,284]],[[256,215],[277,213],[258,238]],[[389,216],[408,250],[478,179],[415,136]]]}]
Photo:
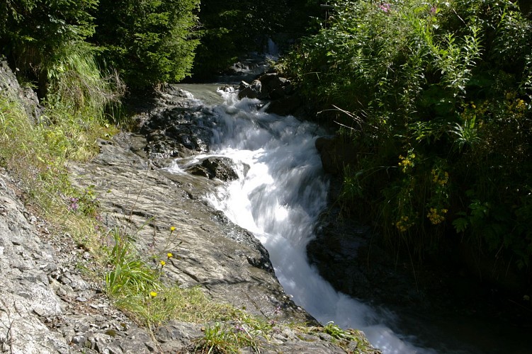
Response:
[{"label": "all bare grey rock along the left bank of the stream", "polygon": [[[176,154],[208,149],[198,139],[195,125],[180,120],[197,116],[201,108],[188,110],[186,95],[180,99],[176,93],[171,87],[159,93],[139,110],[137,120],[148,127],[170,118],[171,126],[185,127],[186,133],[170,134],[166,126],[159,130],[159,139],[154,130],[141,130],[143,135],[120,133],[99,142],[101,153],[94,161],[70,164],[72,183],[94,191],[106,227],[128,230],[147,258],[171,248],[176,257],[165,268],[166,282],[198,285],[215,302],[275,321],[276,331],[263,338],[261,353],[377,353],[362,333],[353,332],[358,338],[353,341],[325,333],[291,301],[259,241],[203,202],[203,193],[215,188],[219,179],[174,175],[161,168]],[[172,112],[178,118],[172,120]],[[169,120],[160,122],[166,125]],[[170,153],[164,144],[176,149]],[[204,168],[216,176],[217,165],[214,170],[207,165]],[[205,324],[171,321],[152,333],[137,326],[113,307],[103,278],[84,278],[82,270],[94,268],[91,254],[28,210],[17,187],[18,181],[1,173],[3,353],[193,352]],[[169,239],[170,226],[176,227],[177,239]],[[288,326],[293,322],[306,323],[306,328]]]}]

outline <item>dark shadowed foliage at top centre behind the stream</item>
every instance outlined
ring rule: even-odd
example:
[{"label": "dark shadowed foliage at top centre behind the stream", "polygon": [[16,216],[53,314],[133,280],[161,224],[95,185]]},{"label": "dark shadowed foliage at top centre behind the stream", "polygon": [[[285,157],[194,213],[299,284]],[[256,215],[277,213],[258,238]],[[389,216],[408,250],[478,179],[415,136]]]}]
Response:
[{"label": "dark shadowed foliage at top centre behind the stream", "polygon": [[302,35],[319,15],[318,0],[201,1],[201,44],[193,73],[219,74],[249,52],[265,52],[268,38],[283,44]]}]

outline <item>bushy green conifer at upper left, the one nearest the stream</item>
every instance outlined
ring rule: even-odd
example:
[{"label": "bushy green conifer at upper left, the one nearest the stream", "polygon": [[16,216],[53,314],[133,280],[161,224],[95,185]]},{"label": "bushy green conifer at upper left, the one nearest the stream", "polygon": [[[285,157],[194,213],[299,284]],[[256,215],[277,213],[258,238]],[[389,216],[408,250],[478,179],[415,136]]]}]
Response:
[{"label": "bushy green conifer at upper left, the one nearest the stream", "polygon": [[94,39],[129,86],[176,82],[191,73],[199,0],[101,0]]}]

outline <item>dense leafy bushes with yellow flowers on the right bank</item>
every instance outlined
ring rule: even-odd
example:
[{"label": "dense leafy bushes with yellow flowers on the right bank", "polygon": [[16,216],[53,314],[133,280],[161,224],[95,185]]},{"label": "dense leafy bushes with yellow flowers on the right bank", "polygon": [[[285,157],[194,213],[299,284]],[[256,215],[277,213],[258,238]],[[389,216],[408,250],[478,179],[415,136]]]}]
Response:
[{"label": "dense leafy bushes with yellow flowers on the right bank", "polygon": [[419,255],[467,241],[522,268],[531,43],[532,22],[508,0],[338,1],[281,68],[356,146],[346,210]]}]

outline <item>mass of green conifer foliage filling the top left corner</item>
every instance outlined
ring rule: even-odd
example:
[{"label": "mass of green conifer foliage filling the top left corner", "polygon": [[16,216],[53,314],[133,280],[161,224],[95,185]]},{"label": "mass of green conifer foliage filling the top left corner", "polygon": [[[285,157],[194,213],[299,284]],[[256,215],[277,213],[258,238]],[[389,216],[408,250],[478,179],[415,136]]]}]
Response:
[{"label": "mass of green conifer foliage filling the top left corner", "polygon": [[[57,101],[57,86],[75,87],[79,105],[100,89],[82,79],[89,68],[90,77],[106,81],[101,96],[118,84],[114,72],[130,87],[190,74],[198,6],[199,0],[0,0],[0,53],[42,98],[52,92]],[[64,77],[67,85],[58,82]]]}]

